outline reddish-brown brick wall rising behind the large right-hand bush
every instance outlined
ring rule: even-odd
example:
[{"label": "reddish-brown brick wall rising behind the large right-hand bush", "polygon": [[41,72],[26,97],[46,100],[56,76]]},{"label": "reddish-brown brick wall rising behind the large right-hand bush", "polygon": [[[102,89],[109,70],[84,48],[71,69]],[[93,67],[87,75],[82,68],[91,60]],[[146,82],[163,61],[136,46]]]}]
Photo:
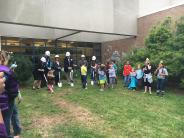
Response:
[{"label": "reddish-brown brick wall rising behind the large right-hand bush", "polygon": [[133,48],[144,47],[145,37],[148,35],[150,29],[154,25],[163,21],[166,17],[172,17],[174,20],[176,20],[181,16],[184,16],[184,5],[138,18],[138,31],[136,38],[127,38],[123,40],[102,43],[102,62],[109,60],[114,51],[118,51],[122,56],[123,53],[126,53]]}]

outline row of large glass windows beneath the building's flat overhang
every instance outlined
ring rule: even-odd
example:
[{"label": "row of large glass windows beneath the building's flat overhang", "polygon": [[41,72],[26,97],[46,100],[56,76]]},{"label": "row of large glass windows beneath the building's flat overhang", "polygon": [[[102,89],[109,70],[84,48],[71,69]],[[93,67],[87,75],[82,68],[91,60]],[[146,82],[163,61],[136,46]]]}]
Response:
[{"label": "row of large glass windows beneath the building's flat overhang", "polygon": [[30,38],[15,38],[1,37],[2,49],[14,53],[20,53],[28,56],[43,55],[46,50],[51,52],[51,57],[59,54],[63,61],[65,53],[69,51],[75,64],[81,59],[84,54],[88,61],[94,55],[97,61],[101,61],[101,44],[100,43],[83,43],[83,42],[66,42],[46,39],[30,39]]}]

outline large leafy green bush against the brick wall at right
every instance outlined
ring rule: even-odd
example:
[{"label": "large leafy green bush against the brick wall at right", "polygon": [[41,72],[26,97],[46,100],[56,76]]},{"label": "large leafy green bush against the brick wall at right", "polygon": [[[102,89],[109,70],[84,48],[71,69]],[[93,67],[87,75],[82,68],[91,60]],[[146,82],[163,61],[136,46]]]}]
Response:
[{"label": "large leafy green bush against the brick wall at right", "polygon": [[184,17],[175,23],[167,18],[154,26],[145,45],[145,48],[131,51],[122,62],[129,60],[133,66],[143,65],[149,58],[154,71],[163,60],[169,72],[169,83],[184,88]]}]

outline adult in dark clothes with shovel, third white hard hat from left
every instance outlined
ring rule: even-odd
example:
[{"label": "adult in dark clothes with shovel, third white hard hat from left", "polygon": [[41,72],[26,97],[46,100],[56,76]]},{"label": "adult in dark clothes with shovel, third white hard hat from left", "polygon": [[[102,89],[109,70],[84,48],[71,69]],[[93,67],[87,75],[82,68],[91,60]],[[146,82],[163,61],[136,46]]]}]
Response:
[{"label": "adult in dark clothes with shovel, third white hard hat from left", "polygon": [[55,61],[53,64],[54,69],[54,75],[55,75],[55,84],[58,85],[58,87],[62,87],[61,82],[61,63],[59,59],[59,55],[55,55]]}]

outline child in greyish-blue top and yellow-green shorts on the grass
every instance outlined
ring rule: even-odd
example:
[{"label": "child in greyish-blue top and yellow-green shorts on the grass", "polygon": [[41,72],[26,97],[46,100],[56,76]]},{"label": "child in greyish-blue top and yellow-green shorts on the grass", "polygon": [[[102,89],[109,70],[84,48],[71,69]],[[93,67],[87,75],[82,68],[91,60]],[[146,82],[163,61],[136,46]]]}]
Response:
[{"label": "child in greyish-blue top and yellow-green shorts on the grass", "polygon": [[101,64],[100,69],[98,70],[100,91],[104,91],[105,83],[106,83],[106,73],[105,73],[105,65]]}]

